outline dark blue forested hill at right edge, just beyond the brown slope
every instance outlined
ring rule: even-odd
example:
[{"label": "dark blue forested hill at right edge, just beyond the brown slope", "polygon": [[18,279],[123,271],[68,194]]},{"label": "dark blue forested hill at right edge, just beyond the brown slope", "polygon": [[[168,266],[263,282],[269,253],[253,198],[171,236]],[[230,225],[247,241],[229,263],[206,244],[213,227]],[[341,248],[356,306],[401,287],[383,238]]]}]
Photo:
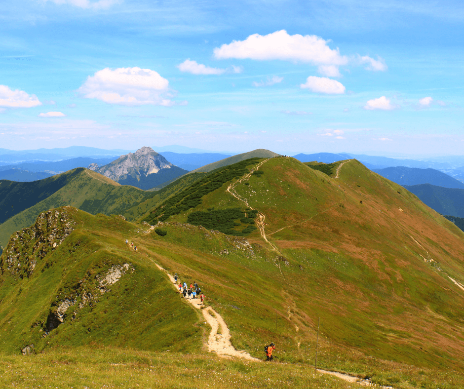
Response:
[{"label": "dark blue forested hill at right edge, just beyond the brown slope", "polygon": [[464,218],[464,189],[442,188],[430,184],[404,187],[438,213]]}]

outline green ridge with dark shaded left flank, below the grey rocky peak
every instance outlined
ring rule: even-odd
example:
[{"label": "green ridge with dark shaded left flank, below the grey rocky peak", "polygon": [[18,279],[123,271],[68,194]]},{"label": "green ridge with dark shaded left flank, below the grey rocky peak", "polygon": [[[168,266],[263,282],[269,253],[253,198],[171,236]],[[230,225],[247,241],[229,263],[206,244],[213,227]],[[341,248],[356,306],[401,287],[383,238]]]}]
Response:
[{"label": "green ridge with dark shaded left flank, below the grey rocky peak", "polygon": [[[55,180],[51,180],[57,177]],[[0,188],[5,182],[1,182]],[[34,223],[40,212],[72,205],[86,212],[106,215],[120,214],[142,201],[146,192],[118,183],[84,168],[77,168],[50,179],[32,183],[11,183],[4,188],[9,193],[2,199],[2,207],[16,206],[16,211],[31,203],[27,209],[17,212],[0,225],[0,244],[4,246],[15,231]],[[57,189],[58,188],[58,189]],[[55,191],[55,189],[57,189]],[[19,200],[16,200],[19,197]],[[38,201],[39,200],[39,201]],[[25,204],[25,205],[23,205]],[[18,209],[19,206],[22,206]]]}]

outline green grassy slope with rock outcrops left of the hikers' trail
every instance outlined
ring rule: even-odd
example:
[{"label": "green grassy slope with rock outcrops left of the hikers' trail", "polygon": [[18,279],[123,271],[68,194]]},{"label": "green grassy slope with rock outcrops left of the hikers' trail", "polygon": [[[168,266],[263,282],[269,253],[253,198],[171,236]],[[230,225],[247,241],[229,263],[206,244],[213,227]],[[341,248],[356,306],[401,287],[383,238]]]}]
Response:
[{"label": "green grassy slope with rock outcrops left of the hikers' trail", "polygon": [[117,216],[62,207],[12,239],[0,261],[0,329],[8,332],[1,349],[200,348],[198,314],[152,261],[125,244],[137,234],[133,227]]}]

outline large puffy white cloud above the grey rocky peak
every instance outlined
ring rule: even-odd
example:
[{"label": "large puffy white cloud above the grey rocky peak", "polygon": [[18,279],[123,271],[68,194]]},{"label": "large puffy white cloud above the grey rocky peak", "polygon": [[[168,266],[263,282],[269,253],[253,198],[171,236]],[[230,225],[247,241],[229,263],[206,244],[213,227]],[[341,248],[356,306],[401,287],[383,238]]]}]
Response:
[{"label": "large puffy white cloud above the grey rocky peak", "polygon": [[87,99],[126,106],[172,106],[169,81],[154,70],[141,68],[105,68],[99,70],[77,90]]}]

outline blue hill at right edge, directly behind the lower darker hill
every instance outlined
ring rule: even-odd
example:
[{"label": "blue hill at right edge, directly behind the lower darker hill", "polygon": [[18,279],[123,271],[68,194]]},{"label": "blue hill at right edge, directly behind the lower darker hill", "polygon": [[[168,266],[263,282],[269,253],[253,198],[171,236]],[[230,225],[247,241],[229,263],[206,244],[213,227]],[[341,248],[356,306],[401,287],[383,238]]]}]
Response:
[{"label": "blue hill at right edge, directly behind the lower darker hill", "polygon": [[397,166],[385,169],[373,169],[373,171],[402,186],[430,184],[443,188],[464,189],[462,182],[435,169]]}]

